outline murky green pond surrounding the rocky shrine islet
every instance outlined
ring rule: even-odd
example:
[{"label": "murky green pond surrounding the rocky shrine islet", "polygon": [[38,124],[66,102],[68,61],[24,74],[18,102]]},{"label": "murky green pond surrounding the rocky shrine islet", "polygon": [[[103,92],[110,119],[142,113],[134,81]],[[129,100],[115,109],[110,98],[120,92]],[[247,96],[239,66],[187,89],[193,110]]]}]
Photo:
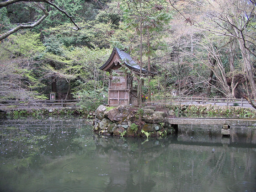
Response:
[{"label": "murky green pond surrounding the rocky shrine islet", "polygon": [[255,192],[256,128],[179,127],[176,136],[99,136],[81,119],[0,125],[5,192]]}]

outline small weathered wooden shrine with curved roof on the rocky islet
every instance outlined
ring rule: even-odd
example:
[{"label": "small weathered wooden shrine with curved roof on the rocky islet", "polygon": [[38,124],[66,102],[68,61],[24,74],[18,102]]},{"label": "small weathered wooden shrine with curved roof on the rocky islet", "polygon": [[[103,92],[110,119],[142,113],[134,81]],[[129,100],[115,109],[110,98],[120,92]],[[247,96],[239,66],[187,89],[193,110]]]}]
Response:
[{"label": "small weathered wooden shrine with curved roof on the rocky islet", "polygon": [[[120,68],[123,66],[123,69]],[[137,65],[128,53],[114,48],[109,59],[99,69],[109,72],[108,85],[108,105],[138,105],[138,86],[133,84],[134,75],[125,73],[124,70],[132,70],[134,74],[139,75],[139,65]],[[153,73],[142,69],[143,75],[152,75]],[[138,81],[138,80],[137,80]]]}]

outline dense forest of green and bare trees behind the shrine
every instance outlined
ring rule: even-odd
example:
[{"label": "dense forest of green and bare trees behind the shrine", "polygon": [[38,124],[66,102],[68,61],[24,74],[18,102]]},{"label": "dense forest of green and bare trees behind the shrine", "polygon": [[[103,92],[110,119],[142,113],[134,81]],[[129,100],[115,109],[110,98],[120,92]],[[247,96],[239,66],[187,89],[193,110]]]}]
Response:
[{"label": "dense forest of green and bare trees behind the shrine", "polygon": [[255,0],[0,0],[0,101],[56,92],[97,107],[114,47],[155,72],[148,99],[255,99],[255,15]]}]

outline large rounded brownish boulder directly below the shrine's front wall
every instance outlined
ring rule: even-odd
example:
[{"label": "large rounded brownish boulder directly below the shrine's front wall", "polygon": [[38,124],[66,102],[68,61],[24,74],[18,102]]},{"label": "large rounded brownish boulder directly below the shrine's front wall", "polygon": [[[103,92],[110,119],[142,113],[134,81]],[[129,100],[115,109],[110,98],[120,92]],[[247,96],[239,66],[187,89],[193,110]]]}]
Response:
[{"label": "large rounded brownish boulder directly below the shrine's front wall", "polygon": [[133,121],[135,117],[134,110],[131,107],[125,107],[123,105],[113,108],[105,114],[112,122],[119,124],[128,124],[128,121]]}]

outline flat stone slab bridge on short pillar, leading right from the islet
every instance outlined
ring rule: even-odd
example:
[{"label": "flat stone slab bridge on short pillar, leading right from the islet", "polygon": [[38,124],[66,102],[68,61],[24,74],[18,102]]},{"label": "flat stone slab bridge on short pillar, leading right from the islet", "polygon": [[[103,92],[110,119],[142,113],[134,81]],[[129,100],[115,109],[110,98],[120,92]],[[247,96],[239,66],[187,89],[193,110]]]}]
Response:
[{"label": "flat stone slab bridge on short pillar, leading right from the islet", "polygon": [[168,123],[172,125],[190,124],[190,125],[222,125],[221,133],[229,135],[230,126],[256,126],[256,118],[188,118],[175,117],[169,118]]}]

